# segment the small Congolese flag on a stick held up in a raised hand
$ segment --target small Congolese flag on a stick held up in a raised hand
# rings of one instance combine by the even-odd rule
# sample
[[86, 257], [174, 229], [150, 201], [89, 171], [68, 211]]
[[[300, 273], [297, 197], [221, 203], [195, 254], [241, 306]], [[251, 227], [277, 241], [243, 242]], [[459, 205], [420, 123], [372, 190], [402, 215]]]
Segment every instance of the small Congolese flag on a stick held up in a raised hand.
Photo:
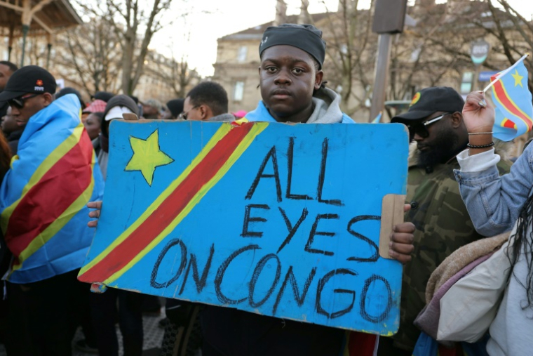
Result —
[[532, 95], [527, 88], [528, 73], [524, 55], [512, 67], [491, 77], [492, 101], [496, 105], [494, 137], [510, 141], [533, 126]]

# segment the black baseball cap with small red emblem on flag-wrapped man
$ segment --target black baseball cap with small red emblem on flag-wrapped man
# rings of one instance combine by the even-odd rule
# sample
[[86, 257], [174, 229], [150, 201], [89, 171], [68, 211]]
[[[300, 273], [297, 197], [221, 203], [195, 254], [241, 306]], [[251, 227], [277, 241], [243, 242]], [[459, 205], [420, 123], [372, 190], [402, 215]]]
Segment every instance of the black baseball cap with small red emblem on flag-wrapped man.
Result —
[[4, 91], [0, 93], [0, 102], [18, 98], [27, 93], [55, 94], [55, 78], [48, 70], [37, 65], [26, 65], [15, 70], [9, 78]]

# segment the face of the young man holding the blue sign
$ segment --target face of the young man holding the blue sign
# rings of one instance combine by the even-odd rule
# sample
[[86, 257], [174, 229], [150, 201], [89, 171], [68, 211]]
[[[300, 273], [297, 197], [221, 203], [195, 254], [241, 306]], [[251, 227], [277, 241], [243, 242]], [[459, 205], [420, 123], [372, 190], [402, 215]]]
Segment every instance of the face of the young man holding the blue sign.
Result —
[[323, 72], [309, 53], [293, 46], [273, 46], [262, 53], [261, 96], [271, 115], [281, 122], [306, 122], [313, 112], [313, 90]]

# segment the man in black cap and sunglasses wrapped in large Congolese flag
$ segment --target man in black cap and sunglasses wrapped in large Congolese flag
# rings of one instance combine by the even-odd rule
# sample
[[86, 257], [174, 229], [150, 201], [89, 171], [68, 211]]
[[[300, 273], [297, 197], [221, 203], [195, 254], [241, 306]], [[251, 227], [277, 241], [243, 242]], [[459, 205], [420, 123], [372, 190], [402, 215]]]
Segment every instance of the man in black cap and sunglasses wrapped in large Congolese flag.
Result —
[[[74, 94], [54, 100], [55, 78], [15, 71], [0, 102], [24, 128], [0, 187], [0, 225], [13, 257], [4, 275], [8, 355], [72, 355], [90, 289], [76, 278], [93, 241], [87, 202], [104, 181]], [[4, 273], [5, 270], [1, 270]]]

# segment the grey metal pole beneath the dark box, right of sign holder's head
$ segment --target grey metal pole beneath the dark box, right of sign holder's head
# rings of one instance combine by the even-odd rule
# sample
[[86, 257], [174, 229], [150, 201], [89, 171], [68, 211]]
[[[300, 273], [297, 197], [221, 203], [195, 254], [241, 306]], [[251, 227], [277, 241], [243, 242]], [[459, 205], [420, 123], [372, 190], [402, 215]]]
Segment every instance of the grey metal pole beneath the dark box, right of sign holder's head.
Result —
[[372, 91], [372, 107], [370, 107], [368, 122], [372, 122], [379, 112], [384, 109], [387, 77], [389, 76], [391, 62], [391, 43], [392, 34], [379, 34], [374, 91]]

